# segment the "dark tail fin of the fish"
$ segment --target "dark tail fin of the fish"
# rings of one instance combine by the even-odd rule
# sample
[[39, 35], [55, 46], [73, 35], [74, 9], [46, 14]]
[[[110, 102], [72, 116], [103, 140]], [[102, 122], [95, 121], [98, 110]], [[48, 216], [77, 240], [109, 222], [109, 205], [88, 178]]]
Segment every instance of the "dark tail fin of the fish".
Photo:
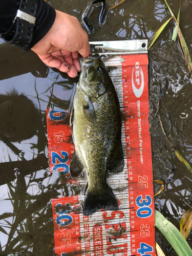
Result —
[[117, 200], [108, 185], [100, 190], [90, 190], [89, 188], [87, 190], [82, 209], [83, 215], [91, 215], [99, 209], [119, 209]]

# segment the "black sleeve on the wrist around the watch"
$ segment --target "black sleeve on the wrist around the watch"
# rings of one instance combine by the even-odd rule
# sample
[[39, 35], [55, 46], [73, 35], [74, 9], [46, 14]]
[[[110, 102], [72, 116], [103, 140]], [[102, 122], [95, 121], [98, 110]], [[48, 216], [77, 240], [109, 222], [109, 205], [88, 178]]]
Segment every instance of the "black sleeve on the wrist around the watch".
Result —
[[[13, 24], [20, 1], [19, 0], [1, 0], [0, 7], [0, 34], [3, 36]], [[33, 39], [30, 50], [42, 37], [50, 30], [55, 20], [55, 10], [44, 0], [38, 0], [36, 13], [36, 22], [33, 31]]]

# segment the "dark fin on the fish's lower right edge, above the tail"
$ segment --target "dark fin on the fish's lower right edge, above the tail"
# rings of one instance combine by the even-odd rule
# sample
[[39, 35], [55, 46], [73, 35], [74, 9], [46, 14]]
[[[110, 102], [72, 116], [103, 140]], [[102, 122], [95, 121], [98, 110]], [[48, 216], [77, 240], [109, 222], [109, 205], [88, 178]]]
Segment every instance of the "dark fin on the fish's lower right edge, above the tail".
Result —
[[118, 174], [121, 173], [124, 168], [124, 159], [123, 159], [123, 150], [122, 146], [120, 145], [119, 151], [111, 164], [109, 165], [109, 173], [110, 174]]

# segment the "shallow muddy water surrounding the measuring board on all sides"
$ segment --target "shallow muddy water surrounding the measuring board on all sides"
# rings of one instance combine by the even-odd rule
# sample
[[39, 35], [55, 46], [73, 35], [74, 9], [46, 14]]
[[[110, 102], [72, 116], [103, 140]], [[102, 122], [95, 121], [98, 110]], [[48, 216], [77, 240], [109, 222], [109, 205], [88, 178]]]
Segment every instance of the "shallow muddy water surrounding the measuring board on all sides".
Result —
[[[49, 3], [80, 21], [89, 1]], [[179, 1], [168, 3], [177, 14]], [[182, 1], [180, 28], [192, 55], [191, 7], [190, 0]], [[98, 10], [91, 15], [95, 32], [90, 41], [150, 40], [170, 17], [164, 1], [126, 0], [108, 12], [100, 28]], [[178, 41], [171, 40], [173, 28], [171, 22], [149, 51], [149, 120], [154, 179], [165, 183], [156, 208], [179, 228], [180, 218], [192, 205], [191, 173], [176, 158], [159, 117], [168, 139], [192, 165], [192, 80]], [[47, 106], [70, 111], [78, 77], [46, 67], [31, 51], [0, 43], [0, 255], [54, 255], [50, 200], [74, 195], [78, 189], [63, 185], [58, 173], [49, 174], [45, 111]], [[166, 255], [177, 255], [158, 231], [156, 238]], [[191, 235], [187, 241], [191, 246]]]

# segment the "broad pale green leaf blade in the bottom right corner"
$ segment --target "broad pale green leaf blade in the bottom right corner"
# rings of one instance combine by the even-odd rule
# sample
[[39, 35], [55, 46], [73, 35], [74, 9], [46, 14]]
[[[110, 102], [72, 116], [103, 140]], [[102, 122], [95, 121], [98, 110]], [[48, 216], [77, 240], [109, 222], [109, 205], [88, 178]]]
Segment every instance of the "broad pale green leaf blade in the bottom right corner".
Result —
[[179, 256], [192, 255], [192, 250], [179, 230], [157, 210], [155, 210], [155, 226], [163, 233]]

